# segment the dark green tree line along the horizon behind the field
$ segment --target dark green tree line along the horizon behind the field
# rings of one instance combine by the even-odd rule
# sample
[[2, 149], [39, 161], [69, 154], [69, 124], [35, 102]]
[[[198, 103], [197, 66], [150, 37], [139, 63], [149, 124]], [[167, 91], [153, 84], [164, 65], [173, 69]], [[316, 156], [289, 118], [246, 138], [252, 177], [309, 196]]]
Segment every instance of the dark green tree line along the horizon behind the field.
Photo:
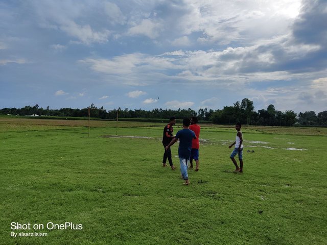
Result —
[[[236, 122], [242, 122], [247, 125], [259, 125], [259, 126], [293, 126], [299, 125], [317, 125], [327, 126], [327, 111], [322, 111], [316, 114], [314, 111], [300, 112], [296, 114], [292, 110], [278, 111], [274, 105], [269, 105], [267, 109], [255, 111], [253, 102], [249, 99], [243, 99], [241, 102], [237, 101], [233, 106], [224, 106], [223, 109], [199, 109], [198, 111], [189, 109], [162, 109], [156, 108], [152, 110], [135, 109], [130, 110], [125, 108], [124, 110], [113, 109], [105, 110], [103, 107], [97, 108], [92, 104], [90, 106], [90, 116], [102, 119], [115, 119], [117, 113], [119, 118], [162, 118], [167, 119], [171, 116], [175, 116], [177, 119], [189, 118], [197, 116], [200, 121], [212, 122], [214, 124], [236, 124]], [[38, 105], [25, 106], [24, 108], [3, 108], [0, 110], [0, 114], [3, 115], [33, 115], [40, 116], [65, 116], [65, 117], [88, 117], [88, 108], [72, 109], [50, 109], [46, 107], [43, 109]]]

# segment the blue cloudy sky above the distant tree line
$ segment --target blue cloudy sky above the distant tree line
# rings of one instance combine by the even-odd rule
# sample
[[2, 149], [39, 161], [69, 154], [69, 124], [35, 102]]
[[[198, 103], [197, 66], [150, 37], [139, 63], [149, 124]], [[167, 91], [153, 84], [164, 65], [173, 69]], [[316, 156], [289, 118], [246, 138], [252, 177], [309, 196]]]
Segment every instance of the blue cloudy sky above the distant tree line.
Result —
[[327, 110], [326, 0], [0, 0], [0, 108]]

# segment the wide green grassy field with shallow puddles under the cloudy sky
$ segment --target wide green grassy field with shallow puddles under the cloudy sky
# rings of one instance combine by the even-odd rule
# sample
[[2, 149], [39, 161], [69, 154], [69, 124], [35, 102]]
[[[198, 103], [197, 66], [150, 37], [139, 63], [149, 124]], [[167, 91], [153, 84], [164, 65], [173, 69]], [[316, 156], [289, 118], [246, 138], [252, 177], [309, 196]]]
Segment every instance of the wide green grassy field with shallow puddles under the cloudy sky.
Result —
[[[87, 126], [0, 117], [0, 244], [327, 244], [326, 128], [244, 127], [234, 174], [235, 129], [201, 125], [200, 171], [183, 186], [178, 144], [176, 170], [161, 167], [165, 124]], [[82, 229], [51, 227], [65, 222]]]

